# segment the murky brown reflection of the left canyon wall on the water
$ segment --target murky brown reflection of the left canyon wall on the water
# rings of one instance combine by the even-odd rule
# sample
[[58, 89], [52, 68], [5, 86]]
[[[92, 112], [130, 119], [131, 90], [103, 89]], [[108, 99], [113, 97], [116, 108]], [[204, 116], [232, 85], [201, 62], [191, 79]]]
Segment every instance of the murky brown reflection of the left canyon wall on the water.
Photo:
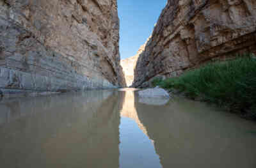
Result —
[[122, 99], [87, 91], [1, 102], [1, 166], [119, 167]]

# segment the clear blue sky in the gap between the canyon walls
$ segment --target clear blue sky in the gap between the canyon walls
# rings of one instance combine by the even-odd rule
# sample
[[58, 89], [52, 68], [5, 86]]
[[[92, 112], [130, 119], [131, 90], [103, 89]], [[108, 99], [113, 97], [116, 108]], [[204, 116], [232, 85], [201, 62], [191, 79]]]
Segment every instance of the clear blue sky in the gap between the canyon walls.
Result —
[[121, 59], [134, 56], [146, 42], [166, 0], [118, 0]]

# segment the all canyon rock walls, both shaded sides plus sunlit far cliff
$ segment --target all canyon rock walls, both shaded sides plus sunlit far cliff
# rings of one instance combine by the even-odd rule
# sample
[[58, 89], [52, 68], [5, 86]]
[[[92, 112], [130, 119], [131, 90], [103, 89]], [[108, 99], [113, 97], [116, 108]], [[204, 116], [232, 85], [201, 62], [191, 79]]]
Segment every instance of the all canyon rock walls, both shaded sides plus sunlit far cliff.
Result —
[[256, 3], [168, 0], [147, 42], [122, 61], [119, 29], [116, 0], [0, 0], [0, 95], [144, 88], [256, 53]]

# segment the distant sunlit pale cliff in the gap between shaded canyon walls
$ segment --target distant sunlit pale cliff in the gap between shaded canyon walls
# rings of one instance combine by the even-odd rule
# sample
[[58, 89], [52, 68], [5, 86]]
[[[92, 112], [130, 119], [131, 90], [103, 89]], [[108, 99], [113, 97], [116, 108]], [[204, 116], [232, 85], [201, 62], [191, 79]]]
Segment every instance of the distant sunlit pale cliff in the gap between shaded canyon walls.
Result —
[[138, 61], [138, 57], [140, 54], [145, 50], [146, 43], [141, 45], [140, 49], [138, 50], [137, 54], [132, 57], [128, 57], [126, 59], [121, 60], [121, 66], [124, 71], [125, 82], [127, 86], [131, 86], [134, 80], [134, 70], [136, 68], [136, 63]]

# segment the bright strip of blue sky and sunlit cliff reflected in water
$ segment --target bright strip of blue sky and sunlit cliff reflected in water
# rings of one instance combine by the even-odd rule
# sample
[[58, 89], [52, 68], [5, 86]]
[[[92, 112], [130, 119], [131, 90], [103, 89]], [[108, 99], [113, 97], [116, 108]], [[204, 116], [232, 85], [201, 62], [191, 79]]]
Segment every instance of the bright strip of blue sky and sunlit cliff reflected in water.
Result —
[[[147, 129], [138, 118], [134, 107], [134, 89], [123, 89], [125, 99], [120, 111], [120, 167], [160, 168], [159, 157]], [[121, 92], [122, 93], [122, 92]]]

